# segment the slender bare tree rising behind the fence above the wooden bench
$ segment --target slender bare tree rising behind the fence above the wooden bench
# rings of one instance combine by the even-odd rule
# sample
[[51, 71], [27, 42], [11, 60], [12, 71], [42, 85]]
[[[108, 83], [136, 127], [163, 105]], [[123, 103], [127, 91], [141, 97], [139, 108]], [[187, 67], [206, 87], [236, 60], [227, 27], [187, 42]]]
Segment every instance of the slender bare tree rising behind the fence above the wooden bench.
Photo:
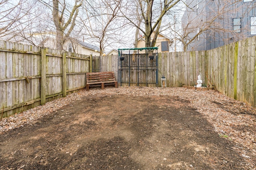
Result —
[[120, 42], [124, 24], [117, 20], [122, 0], [96, 0], [85, 4], [82, 18], [85, 27], [84, 35], [100, 44], [100, 55], [104, 49], [113, 43]]

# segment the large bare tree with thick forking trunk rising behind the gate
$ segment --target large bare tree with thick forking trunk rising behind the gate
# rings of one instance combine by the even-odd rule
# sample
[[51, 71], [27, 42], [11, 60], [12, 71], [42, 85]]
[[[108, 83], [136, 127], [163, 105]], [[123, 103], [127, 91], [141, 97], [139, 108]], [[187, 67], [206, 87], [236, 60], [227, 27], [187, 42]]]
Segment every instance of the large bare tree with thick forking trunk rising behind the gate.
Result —
[[[145, 46], [154, 47], [160, 32], [162, 18], [171, 12], [172, 8], [176, 6], [178, 2], [180, 2], [180, 0], [138, 0], [138, 5], [136, 2], [127, 3], [124, 6], [125, 10], [122, 11], [122, 14], [132, 25], [142, 31], [145, 36]], [[139, 13], [136, 14], [134, 11]], [[137, 22], [138, 16], [142, 16], [141, 25]], [[155, 35], [151, 41], [153, 32], [155, 32]]]

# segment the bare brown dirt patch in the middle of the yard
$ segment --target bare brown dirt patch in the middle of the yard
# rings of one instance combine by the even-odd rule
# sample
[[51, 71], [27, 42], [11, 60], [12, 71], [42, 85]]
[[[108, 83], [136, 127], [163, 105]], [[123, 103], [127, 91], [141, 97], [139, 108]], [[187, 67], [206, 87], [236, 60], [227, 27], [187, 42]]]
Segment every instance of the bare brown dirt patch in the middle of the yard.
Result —
[[234, 147], [188, 100], [99, 93], [3, 133], [0, 169], [253, 169]]

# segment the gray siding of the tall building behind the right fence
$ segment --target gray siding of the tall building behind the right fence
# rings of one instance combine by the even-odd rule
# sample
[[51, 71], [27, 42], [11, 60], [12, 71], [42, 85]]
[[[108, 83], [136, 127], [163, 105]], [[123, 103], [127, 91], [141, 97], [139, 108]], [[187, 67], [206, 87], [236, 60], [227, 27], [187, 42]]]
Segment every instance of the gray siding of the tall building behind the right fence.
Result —
[[[251, 17], [256, 16], [256, 1], [186, 0], [186, 4], [188, 6], [182, 17], [182, 29], [185, 33], [184, 28], [190, 28], [187, 41], [196, 36], [198, 29], [206, 29], [208, 21], [213, 21], [209, 29], [204, 30], [187, 46], [187, 51], [214, 49], [256, 34], [256, 23], [251, 23]], [[241, 18], [240, 22], [237, 18]], [[237, 25], [234, 25], [234, 21]], [[240, 30], [237, 29], [239, 27]]]

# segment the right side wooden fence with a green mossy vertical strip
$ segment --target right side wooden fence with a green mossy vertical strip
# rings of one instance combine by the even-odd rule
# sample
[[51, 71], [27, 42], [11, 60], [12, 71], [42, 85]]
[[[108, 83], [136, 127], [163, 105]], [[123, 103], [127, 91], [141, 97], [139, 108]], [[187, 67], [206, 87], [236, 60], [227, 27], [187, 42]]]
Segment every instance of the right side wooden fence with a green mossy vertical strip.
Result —
[[256, 107], [256, 37], [208, 51], [208, 74], [218, 91]]

